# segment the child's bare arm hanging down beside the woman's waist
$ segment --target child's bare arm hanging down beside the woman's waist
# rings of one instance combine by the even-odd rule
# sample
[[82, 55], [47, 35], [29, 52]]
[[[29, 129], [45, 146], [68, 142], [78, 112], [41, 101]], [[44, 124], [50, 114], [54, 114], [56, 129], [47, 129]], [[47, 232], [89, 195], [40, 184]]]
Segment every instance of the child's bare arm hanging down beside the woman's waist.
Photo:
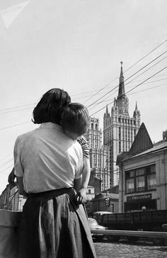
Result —
[[91, 174], [90, 160], [87, 157], [83, 157], [83, 169], [82, 169], [80, 187], [79, 187], [79, 181], [78, 181], [77, 182], [78, 184], [76, 185], [76, 188], [75, 188], [76, 191], [78, 191], [76, 195], [76, 201], [78, 204], [86, 202], [86, 189], [88, 187], [90, 174]]

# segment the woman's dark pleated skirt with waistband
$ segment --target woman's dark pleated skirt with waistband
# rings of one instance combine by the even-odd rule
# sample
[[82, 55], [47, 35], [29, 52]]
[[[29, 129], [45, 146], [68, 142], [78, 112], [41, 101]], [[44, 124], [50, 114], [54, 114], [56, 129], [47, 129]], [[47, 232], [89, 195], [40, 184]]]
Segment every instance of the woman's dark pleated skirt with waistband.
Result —
[[74, 189], [30, 194], [23, 207], [19, 258], [95, 258], [83, 205]]

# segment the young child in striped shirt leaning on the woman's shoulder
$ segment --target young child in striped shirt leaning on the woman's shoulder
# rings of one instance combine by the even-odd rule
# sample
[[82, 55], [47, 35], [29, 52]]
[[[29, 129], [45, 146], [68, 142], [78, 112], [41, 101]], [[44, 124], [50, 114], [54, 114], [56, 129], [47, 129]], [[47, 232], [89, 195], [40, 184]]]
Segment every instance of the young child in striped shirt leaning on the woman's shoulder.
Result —
[[78, 204], [86, 202], [86, 189], [91, 174], [89, 161], [88, 142], [84, 135], [89, 126], [89, 116], [87, 108], [81, 103], [69, 103], [62, 112], [61, 125], [64, 133], [77, 140], [83, 151], [83, 170], [81, 179], [74, 180], [74, 189], [77, 191], [76, 201]]

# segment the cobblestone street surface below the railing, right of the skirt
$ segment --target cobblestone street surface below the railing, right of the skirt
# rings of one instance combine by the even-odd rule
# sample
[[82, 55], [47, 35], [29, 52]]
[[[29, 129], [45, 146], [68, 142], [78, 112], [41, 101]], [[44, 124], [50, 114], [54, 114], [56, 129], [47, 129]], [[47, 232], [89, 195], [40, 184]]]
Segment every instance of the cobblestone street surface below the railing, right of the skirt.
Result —
[[165, 258], [167, 246], [155, 246], [151, 242], [94, 242], [97, 258]]

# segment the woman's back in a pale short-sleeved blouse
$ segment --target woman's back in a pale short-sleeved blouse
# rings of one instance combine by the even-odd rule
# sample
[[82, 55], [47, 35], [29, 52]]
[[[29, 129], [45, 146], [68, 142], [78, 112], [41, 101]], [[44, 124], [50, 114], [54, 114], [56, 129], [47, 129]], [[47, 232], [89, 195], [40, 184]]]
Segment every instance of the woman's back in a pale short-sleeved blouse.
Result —
[[27, 193], [72, 187], [81, 176], [82, 159], [79, 143], [54, 123], [42, 123], [16, 140], [16, 176], [23, 176]]

